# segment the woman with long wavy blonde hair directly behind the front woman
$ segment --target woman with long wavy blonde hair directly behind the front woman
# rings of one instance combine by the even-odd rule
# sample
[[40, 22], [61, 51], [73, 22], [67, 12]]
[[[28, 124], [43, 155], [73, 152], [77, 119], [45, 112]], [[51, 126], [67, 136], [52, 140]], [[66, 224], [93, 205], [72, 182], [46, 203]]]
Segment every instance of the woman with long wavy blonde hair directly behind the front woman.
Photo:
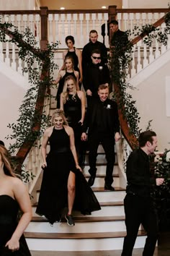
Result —
[[76, 90], [76, 80], [72, 76], [66, 77], [61, 93], [61, 109], [63, 109], [68, 125], [73, 128], [76, 153], [80, 166], [83, 162], [83, 142], [81, 141], [81, 126], [85, 116], [85, 95], [81, 90]]

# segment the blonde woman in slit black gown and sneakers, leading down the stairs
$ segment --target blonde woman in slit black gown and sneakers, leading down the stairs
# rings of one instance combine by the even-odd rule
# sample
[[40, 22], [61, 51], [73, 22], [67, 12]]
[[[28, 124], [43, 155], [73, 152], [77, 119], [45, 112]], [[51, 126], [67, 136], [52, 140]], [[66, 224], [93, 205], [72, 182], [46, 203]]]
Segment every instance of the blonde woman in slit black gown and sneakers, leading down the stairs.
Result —
[[[63, 209], [68, 206], [65, 218], [68, 225], [73, 226], [73, 206], [84, 214], [99, 210], [100, 206], [81, 173], [73, 129], [68, 127], [63, 111], [57, 109], [52, 121], [54, 125], [45, 130], [42, 140], [44, 174], [36, 213], [45, 216], [53, 224], [61, 220]], [[46, 158], [48, 141], [50, 153]]]

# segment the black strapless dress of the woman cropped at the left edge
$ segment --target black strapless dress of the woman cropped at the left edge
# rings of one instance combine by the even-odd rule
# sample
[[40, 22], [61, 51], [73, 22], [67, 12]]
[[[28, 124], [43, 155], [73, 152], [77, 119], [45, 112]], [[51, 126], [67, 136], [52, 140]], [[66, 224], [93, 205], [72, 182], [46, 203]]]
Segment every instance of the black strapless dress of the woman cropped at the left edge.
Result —
[[17, 227], [17, 215], [19, 205], [9, 195], [0, 195], [0, 255], [1, 256], [31, 256], [30, 250], [24, 239], [24, 235], [19, 239], [19, 250], [12, 252], [5, 247], [6, 242], [11, 239], [14, 230]]

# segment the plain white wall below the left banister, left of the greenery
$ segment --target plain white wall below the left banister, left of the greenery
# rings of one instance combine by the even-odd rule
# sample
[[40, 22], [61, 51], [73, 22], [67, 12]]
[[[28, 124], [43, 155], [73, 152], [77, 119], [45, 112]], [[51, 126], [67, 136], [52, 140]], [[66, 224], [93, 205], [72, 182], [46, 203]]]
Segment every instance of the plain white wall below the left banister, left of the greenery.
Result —
[[13, 122], [16, 124], [19, 117], [19, 106], [21, 106], [24, 95], [27, 91], [27, 81], [11, 68], [0, 62], [0, 140], [3, 140], [6, 148], [12, 140], [6, 140], [6, 135], [10, 135], [12, 130], [7, 125]]

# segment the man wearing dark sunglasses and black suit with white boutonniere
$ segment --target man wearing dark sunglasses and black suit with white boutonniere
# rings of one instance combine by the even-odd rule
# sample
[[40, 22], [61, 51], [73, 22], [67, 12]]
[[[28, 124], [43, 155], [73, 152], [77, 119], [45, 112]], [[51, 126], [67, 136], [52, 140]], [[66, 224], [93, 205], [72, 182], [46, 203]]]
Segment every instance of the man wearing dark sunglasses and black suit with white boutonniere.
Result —
[[99, 85], [109, 86], [109, 69], [106, 64], [102, 64], [101, 53], [98, 49], [91, 52], [91, 64], [86, 67], [84, 74], [84, 90], [86, 90], [87, 105], [98, 98]]

